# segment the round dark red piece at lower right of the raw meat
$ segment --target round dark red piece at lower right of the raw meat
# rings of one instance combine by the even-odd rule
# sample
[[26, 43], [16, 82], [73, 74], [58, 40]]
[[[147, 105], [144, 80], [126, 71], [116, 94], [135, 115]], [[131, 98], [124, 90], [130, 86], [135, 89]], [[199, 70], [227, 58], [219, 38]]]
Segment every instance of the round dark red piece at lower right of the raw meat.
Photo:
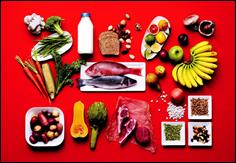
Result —
[[147, 146], [150, 141], [150, 131], [147, 127], [138, 127], [135, 132], [135, 140], [142, 146]]

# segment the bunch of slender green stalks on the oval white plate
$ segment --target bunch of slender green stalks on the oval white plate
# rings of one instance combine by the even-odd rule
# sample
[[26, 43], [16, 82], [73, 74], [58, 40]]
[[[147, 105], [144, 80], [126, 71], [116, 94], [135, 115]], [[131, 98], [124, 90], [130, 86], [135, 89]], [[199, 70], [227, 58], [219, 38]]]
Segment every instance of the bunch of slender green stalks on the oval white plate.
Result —
[[53, 51], [57, 51], [67, 43], [71, 42], [71, 36], [60, 35], [57, 37], [46, 37], [37, 41], [39, 42], [40, 47], [34, 50], [34, 55], [42, 55], [43, 57], [47, 57], [48, 55], [51, 55]]

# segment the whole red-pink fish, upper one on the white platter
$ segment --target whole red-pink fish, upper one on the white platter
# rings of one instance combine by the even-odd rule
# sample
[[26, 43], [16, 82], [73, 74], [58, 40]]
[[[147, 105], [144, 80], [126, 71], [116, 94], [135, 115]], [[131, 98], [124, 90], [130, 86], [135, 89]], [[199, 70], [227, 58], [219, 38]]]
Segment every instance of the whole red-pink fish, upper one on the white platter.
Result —
[[88, 76], [110, 76], [135, 74], [141, 76], [141, 68], [128, 68], [127, 66], [111, 61], [101, 61], [94, 63], [85, 71]]

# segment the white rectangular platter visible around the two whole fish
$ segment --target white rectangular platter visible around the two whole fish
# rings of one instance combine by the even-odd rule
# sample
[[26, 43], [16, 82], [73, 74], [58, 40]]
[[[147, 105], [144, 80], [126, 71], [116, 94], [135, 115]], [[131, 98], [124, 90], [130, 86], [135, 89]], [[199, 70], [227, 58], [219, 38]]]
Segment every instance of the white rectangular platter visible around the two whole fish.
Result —
[[[81, 65], [80, 71], [80, 79], [92, 79], [92, 77], [88, 76], [85, 71], [86, 69], [96, 62], [87, 62], [86, 65]], [[120, 92], [120, 91], [145, 91], [146, 90], [146, 63], [145, 62], [118, 62], [121, 63], [128, 68], [141, 68], [141, 76], [127, 74], [125, 76], [135, 79], [137, 84], [123, 89], [102, 89], [102, 88], [95, 88], [93, 86], [83, 86], [80, 87], [80, 91], [84, 92]]]

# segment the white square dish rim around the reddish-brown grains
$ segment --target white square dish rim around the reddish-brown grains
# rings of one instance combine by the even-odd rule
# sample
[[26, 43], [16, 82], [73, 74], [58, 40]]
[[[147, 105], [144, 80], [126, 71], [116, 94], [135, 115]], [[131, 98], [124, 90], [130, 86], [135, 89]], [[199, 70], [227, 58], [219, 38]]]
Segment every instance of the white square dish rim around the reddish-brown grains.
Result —
[[[207, 99], [208, 100], [208, 115], [192, 115], [191, 114], [191, 99]], [[188, 96], [188, 119], [212, 119], [212, 97], [211, 96]]]

